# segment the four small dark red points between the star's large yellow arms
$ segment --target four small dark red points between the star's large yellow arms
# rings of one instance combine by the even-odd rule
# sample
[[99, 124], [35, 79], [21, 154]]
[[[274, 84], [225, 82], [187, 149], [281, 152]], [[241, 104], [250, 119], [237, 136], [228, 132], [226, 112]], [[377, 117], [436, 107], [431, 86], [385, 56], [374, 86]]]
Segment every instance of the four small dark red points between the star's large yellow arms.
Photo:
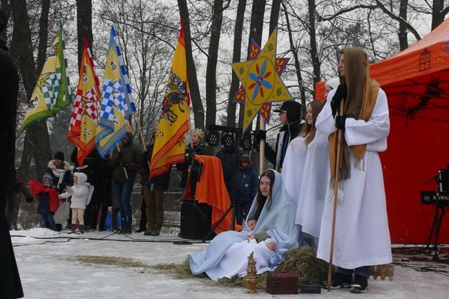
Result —
[[[251, 41], [249, 60], [256, 59], [261, 51], [262, 49], [260, 49], [258, 44], [256, 44], [256, 41], [254, 40]], [[279, 76], [282, 75], [282, 73], [284, 72], [285, 67], [287, 66], [289, 60], [290, 60], [289, 58], [276, 57], [275, 69], [276, 73], [278, 73]], [[240, 88], [238, 89], [238, 92], [236, 94], [236, 97], [234, 97], [233, 102], [240, 104], [245, 103], [245, 96], [246, 96], [245, 94], [246, 94], [245, 88], [242, 85], [240, 85]], [[271, 115], [271, 102], [266, 102], [265, 104], [263, 104], [259, 109], [259, 114], [262, 115], [263, 119], [265, 119], [265, 122], [269, 124], [269, 117]]]

